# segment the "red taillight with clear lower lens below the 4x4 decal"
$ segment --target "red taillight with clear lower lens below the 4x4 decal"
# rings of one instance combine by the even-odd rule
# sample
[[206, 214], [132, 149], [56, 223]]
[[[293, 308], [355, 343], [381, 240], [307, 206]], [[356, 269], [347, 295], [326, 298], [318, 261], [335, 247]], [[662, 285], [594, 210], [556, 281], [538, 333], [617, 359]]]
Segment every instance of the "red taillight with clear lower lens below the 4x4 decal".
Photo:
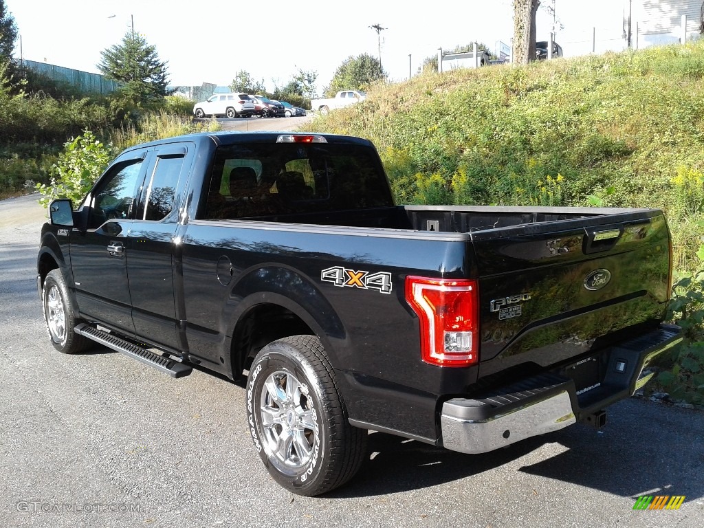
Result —
[[479, 362], [478, 300], [474, 280], [406, 277], [406, 301], [420, 320], [425, 363], [466, 367]]

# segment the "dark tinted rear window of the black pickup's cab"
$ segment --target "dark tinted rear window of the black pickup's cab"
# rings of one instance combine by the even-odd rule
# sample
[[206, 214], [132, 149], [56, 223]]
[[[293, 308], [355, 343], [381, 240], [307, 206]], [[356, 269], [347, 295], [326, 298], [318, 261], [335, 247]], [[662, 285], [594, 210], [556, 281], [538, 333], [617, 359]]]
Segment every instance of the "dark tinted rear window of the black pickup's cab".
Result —
[[215, 154], [199, 218], [394, 206], [374, 149], [353, 144], [235, 144]]

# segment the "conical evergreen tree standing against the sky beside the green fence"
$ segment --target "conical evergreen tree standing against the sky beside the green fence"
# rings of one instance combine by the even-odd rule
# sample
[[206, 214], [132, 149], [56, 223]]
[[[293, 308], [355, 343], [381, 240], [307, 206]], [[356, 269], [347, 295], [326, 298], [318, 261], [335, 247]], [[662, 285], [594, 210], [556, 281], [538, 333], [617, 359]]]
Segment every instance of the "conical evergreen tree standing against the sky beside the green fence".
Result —
[[98, 69], [108, 78], [122, 83], [119, 93], [139, 108], [161, 103], [168, 95], [168, 70], [160, 61], [156, 47], [147, 44], [134, 31], [125, 33], [121, 44], [101, 51]]

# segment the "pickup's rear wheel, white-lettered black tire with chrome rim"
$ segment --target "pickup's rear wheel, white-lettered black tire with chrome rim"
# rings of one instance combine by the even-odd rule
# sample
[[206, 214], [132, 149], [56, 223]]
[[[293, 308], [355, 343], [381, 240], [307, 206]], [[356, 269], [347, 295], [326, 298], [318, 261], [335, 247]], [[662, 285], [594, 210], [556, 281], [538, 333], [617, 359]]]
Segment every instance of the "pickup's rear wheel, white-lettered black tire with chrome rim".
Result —
[[331, 491], [365, 460], [367, 431], [349, 424], [318, 337], [286, 337], [262, 348], [249, 370], [246, 412], [262, 462], [294, 494]]

